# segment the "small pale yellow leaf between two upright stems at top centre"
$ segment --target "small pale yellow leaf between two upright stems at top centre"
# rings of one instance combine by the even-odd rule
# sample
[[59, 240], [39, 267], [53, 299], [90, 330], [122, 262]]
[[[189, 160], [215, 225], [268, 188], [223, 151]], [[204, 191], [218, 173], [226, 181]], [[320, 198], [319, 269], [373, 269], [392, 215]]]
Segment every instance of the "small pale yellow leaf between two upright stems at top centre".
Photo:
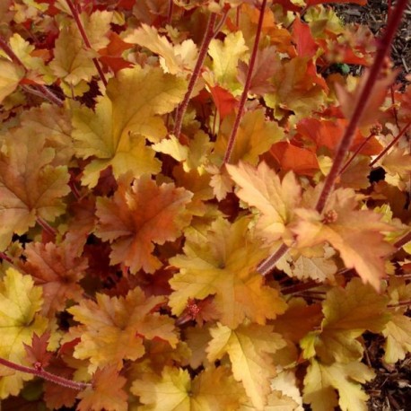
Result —
[[213, 58], [212, 69], [216, 82], [234, 95], [241, 92], [237, 66], [240, 60], [247, 58], [248, 50], [242, 31], [229, 33], [223, 41], [212, 39], [208, 47], [208, 54]]

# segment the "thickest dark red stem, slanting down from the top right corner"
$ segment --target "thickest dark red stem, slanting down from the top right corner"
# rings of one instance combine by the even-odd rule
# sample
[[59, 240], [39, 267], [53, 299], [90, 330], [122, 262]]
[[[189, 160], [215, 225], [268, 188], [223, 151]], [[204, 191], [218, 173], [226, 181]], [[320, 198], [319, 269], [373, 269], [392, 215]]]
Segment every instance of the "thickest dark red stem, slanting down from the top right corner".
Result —
[[407, 7], [407, 0], [398, 0], [398, 5], [394, 13], [391, 14], [386, 31], [383, 39], [380, 40], [380, 48], [377, 51], [374, 63], [371, 67], [370, 74], [365, 82], [363, 90], [357, 101], [354, 109], [353, 116], [350, 118], [348, 126], [345, 129], [345, 134], [338, 146], [337, 154], [334, 159], [331, 170], [325, 180], [324, 187], [322, 188], [321, 194], [319, 196], [319, 201], [316, 205], [316, 210], [322, 213], [324, 207], [326, 206], [329, 195], [331, 194], [334, 184], [336, 183], [337, 177], [340, 173], [341, 167], [345, 159], [345, 155], [348, 152], [351, 144], [353, 143], [354, 133], [356, 127], [358, 126], [367, 102], [372, 95], [372, 89], [374, 84], [377, 82], [378, 75], [380, 74], [381, 68], [384, 65], [385, 57], [389, 51], [394, 35], [398, 29], [398, 25], [401, 22], [401, 17], [404, 10]]

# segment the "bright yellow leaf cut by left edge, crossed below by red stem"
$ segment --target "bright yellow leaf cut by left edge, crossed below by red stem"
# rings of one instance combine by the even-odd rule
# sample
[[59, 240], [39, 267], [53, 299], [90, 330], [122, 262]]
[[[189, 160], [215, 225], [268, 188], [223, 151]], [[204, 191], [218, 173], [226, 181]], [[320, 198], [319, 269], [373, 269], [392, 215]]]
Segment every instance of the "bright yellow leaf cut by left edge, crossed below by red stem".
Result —
[[[22, 275], [8, 268], [0, 283], [0, 357], [13, 363], [24, 363], [26, 351], [23, 344], [31, 344], [34, 333], [42, 335], [48, 319], [39, 315], [43, 299], [40, 287], [34, 286], [30, 275]], [[3, 367], [1, 374], [4, 375]], [[12, 373], [0, 379], [0, 398], [18, 395], [23, 380], [30, 374]]]

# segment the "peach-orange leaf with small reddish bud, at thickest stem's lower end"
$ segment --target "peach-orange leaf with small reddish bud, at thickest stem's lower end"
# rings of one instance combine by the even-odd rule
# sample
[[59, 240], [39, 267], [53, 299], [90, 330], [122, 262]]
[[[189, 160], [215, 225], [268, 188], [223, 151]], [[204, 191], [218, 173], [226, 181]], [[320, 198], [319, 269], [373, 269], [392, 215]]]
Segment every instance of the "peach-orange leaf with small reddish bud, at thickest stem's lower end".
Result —
[[328, 241], [339, 251], [345, 267], [355, 268], [364, 283], [379, 290], [380, 278], [385, 276], [384, 258], [394, 250], [382, 232], [393, 231], [393, 227], [381, 221], [381, 214], [357, 207], [354, 190], [338, 188], [322, 215], [308, 209], [296, 210], [301, 220], [293, 232], [301, 248]]

